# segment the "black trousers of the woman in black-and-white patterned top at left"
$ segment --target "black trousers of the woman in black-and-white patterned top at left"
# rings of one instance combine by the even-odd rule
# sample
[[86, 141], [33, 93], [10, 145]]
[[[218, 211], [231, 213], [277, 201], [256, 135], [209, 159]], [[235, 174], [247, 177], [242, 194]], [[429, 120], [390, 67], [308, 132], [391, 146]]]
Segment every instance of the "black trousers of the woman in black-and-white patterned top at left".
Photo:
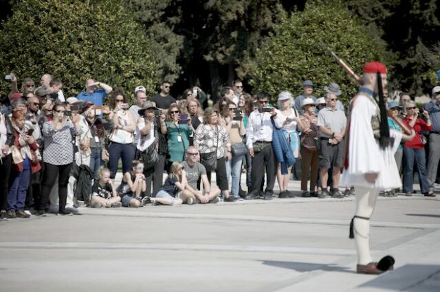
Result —
[[68, 165], [51, 165], [50, 163], [45, 163], [44, 167], [43, 189], [41, 190], [43, 196], [40, 209], [45, 210], [49, 208], [50, 191], [52, 190], [52, 186], [54, 186], [56, 175], [58, 175], [58, 198], [60, 200], [59, 210], [61, 212], [66, 208], [67, 184], [69, 184], [69, 173], [72, 168], [72, 163]]

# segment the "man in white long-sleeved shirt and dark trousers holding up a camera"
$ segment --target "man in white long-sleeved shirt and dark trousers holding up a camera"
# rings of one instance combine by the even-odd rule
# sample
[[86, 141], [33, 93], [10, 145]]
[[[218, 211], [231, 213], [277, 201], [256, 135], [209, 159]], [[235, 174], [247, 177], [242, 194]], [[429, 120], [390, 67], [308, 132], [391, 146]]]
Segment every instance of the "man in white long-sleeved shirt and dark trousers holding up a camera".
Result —
[[258, 109], [251, 112], [246, 127], [248, 141], [246, 146], [252, 156], [252, 186], [245, 199], [259, 199], [261, 184], [266, 170], [267, 186], [264, 199], [270, 200], [274, 195], [274, 184], [276, 175], [276, 158], [272, 149], [272, 132], [274, 126], [272, 117], [276, 115], [275, 108], [267, 108], [269, 103], [267, 95], [259, 93], [256, 95]]

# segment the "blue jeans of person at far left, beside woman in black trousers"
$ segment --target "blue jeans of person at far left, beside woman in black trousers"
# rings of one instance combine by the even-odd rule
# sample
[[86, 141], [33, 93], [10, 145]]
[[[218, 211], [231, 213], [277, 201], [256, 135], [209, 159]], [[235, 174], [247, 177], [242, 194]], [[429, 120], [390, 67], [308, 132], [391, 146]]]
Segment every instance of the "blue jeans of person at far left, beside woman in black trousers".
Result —
[[23, 210], [25, 208], [29, 182], [30, 169], [25, 169], [21, 172], [13, 171], [11, 173], [7, 210]]

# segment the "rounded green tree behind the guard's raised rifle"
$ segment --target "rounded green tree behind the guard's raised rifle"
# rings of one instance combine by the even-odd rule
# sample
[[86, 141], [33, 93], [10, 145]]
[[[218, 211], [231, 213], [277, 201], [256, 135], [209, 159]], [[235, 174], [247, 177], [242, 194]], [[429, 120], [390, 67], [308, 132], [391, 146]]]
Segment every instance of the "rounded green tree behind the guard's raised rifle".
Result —
[[284, 14], [281, 23], [257, 50], [254, 60], [245, 63], [251, 73], [254, 92], [270, 93], [273, 99], [282, 90], [300, 92], [304, 80], [316, 84], [316, 96], [324, 95], [324, 86], [337, 82], [342, 100], [348, 101], [358, 88], [334, 60], [332, 49], [361, 73], [370, 60], [386, 61], [384, 43], [353, 17], [341, 0], [310, 1], [302, 12]]

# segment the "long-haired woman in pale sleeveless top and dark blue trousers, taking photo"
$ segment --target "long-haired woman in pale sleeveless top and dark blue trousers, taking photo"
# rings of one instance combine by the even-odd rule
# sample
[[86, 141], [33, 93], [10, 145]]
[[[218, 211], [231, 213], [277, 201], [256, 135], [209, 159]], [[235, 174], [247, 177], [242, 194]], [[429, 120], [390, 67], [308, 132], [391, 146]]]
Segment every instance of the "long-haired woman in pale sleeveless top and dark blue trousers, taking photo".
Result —
[[131, 170], [131, 162], [135, 158], [133, 144], [136, 121], [129, 110], [129, 99], [120, 90], [111, 93], [110, 107], [113, 109], [113, 131], [109, 136], [109, 169], [110, 178], [114, 180], [118, 171], [118, 162], [122, 158], [122, 172]]

